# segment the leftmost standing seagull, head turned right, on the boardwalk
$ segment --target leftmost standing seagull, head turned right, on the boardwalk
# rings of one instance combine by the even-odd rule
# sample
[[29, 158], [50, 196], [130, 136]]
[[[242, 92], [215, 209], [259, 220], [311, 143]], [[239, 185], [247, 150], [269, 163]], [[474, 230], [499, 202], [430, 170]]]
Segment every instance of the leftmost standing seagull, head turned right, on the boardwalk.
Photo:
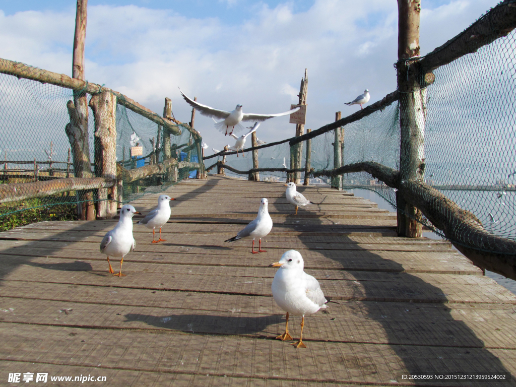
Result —
[[[107, 255], [107, 263], [109, 264], [109, 272], [118, 277], [124, 277], [122, 274], [122, 262], [124, 256], [130, 251], [133, 251], [136, 246], [136, 241], [133, 238], [133, 221], [131, 220], [134, 214], [140, 214], [131, 204], [125, 204], [120, 210], [120, 219], [117, 225], [111, 231], [108, 231], [100, 243], [100, 251]], [[121, 256], [120, 272], [115, 274], [109, 256]]]

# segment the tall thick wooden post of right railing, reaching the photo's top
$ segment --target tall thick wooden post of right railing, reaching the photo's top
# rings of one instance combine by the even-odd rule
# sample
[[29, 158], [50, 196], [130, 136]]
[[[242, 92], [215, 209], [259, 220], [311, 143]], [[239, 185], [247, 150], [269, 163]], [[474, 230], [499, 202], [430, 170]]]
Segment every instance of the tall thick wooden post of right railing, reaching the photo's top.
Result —
[[[426, 89], [421, 90], [416, 66], [410, 58], [419, 56], [421, 0], [398, 0], [398, 90], [400, 120], [399, 175], [401, 180], [423, 181], [425, 170]], [[396, 192], [399, 236], [418, 237], [423, 227], [421, 211]], [[400, 211], [400, 209], [402, 211]]]

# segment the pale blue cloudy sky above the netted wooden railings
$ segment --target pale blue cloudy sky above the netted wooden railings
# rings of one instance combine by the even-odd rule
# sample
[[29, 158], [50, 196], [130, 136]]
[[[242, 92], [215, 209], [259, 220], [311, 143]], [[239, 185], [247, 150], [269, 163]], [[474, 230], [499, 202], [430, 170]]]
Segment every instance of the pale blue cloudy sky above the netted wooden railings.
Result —
[[[422, 0], [422, 54], [458, 34], [496, 0]], [[73, 0], [0, 0], [0, 57], [71, 75]], [[308, 68], [305, 127], [360, 109], [344, 103], [365, 88], [371, 102], [396, 88], [395, 0], [89, 0], [86, 78], [177, 119], [191, 108], [178, 86], [224, 110], [276, 113], [297, 103]], [[228, 138], [196, 117], [211, 148]], [[266, 121], [259, 138], [294, 135], [288, 117]], [[232, 142], [231, 142], [232, 144]]]

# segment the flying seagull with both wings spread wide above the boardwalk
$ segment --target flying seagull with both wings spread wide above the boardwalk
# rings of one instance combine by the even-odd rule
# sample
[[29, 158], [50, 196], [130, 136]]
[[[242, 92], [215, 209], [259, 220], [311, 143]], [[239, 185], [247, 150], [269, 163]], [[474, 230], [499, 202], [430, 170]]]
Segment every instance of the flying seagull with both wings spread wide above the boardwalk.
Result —
[[[242, 111], [242, 105], [236, 105], [235, 110], [233, 111], [225, 111], [225, 110], [218, 110], [214, 109], [213, 107], [209, 107], [203, 104], [200, 104], [197, 101], [193, 101], [190, 98], [188, 98], [182, 91], [181, 95], [183, 95], [183, 98], [185, 99], [190, 106], [195, 107], [203, 116], [212, 117], [212, 118], [220, 118], [223, 119], [223, 121], [219, 121], [215, 124], [215, 127], [217, 130], [222, 132], [225, 126], [225, 135], [228, 135], [228, 129], [231, 126], [232, 130], [231, 133], [235, 130], [235, 126], [237, 127], [237, 132], [243, 129], [243, 126], [240, 124], [240, 121], [265, 121], [272, 117], [281, 117], [281, 116], [288, 116], [289, 114], [292, 114], [300, 109], [300, 107], [296, 107], [292, 110], [284, 111], [283, 113], [278, 114], [244, 114]], [[231, 134], [230, 133], [230, 134]]]

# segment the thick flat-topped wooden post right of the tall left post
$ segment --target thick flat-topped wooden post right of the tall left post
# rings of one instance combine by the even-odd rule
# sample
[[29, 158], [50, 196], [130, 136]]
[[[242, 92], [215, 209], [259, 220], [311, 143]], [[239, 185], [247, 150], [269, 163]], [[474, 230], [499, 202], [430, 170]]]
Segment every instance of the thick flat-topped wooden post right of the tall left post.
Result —
[[[95, 175], [101, 178], [117, 178], [117, 96], [109, 91], [95, 94], [90, 99], [95, 119]], [[117, 185], [99, 188], [97, 218], [106, 219], [117, 215]]]

